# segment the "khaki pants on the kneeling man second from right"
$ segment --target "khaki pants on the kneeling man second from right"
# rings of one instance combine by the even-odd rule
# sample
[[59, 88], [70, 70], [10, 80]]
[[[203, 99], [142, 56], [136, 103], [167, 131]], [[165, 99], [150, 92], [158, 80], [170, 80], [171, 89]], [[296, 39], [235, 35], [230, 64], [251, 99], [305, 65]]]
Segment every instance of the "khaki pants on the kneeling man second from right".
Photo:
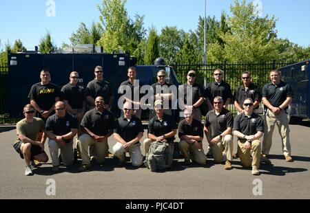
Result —
[[223, 158], [223, 155], [226, 155], [226, 159], [229, 161], [232, 161], [233, 157], [233, 150], [234, 150], [234, 142], [232, 135], [225, 135], [220, 142], [217, 144], [214, 144], [213, 146], [210, 146], [214, 161], [216, 163], [220, 163], [222, 161], [225, 161]]

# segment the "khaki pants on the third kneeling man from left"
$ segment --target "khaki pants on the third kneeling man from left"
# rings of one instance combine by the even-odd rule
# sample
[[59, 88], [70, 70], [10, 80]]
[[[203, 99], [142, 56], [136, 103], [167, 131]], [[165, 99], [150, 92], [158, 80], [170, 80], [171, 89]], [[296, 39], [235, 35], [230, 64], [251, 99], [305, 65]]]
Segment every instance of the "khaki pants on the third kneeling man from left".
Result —
[[88, 146], [94, 147], [94, 156], [96, 157], [97, 164], [103, 164], [105, 162], [105, 154], [107, 153], [107, 139], [102, 142], [96, 142], [90, 135], [84, 133], [78, 139], [79, 147], [81, 148], [82, 164], [89, 165], [90, 157], [88, 155]]

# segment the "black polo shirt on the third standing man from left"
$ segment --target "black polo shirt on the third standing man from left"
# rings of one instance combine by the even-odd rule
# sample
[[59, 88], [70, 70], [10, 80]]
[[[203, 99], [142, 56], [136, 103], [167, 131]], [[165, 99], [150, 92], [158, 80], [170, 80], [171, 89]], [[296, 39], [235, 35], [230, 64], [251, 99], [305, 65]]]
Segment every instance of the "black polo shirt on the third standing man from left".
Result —
[[99, 81], [95, 78], [88, 82], [86, 96], [92, 96], [94, 99], [98, 96], [102, 96], [105, 104], [110, 104], [110, 98], [113, 96], [113, 91], [107, 81]]

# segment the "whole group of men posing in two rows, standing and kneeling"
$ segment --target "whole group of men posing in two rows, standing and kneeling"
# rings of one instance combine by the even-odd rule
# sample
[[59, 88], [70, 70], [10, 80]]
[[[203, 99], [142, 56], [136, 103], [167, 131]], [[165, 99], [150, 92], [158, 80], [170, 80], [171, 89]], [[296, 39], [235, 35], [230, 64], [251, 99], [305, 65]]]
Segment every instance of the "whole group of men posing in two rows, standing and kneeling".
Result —
[[[123, 94], [128, 94], [125, 91], [129, 89], [131, 96], [125, 96], [123, 106], [120, 106], [121, 116], [117, 119], [114, 119], [110, 110], [114, 95], [109, 83], [103, 80], [101, 66], [95, 67], [94, 75], [94, 80], [83, 89], [77, 84], [79, 74], [72, 71], [68, 84], [59, 90], [50, 82], [50, 72], [47, 69], [41, 71], [41, 82], [32, 86], [29, 93], [30, 104], [23, 108], [25, 118], [17, 123], [14, 148], [25, 159], [25, 175], [33, 175], [36, 161], [48, 161], [48, 155], [44, 151], [47, 137], [54, 172], [59, 171], [60, 159], [64, 166], [74, 163], [74, 149], [79, 150], [82, 159], [80, 172], [89, 170], [91, 161], [103, 164], [109, 150], [107, 139], [111, 135], [116, 140], [112, 150], [119, 160], [118, 166], [124, 166], [127, 152], [133, 166], [143, 164], [140, 148], [144, 133], [141, 122], [143, 103], [141, 85], [135, 83], [136, 68], [128, 69], [128, 80], [121, 84], [125, 87]], [[158, 71], [158, 82], [152, 85], [154, 109], [149, 117], [147, 139], [143, 141], [145, 153], [149, 152], [152, 142], [160, 141], [168, 144], [166, 159], [169, 168], [173, 166], [175, 146], [178, 146], [185, 158], [185, 164], [195, 162], [204, 165], [207, 161], [202, 144], [205, 133], [214, 161], [225, 162], [225, 170], [230, 170], [234, 158], [233, 136], [236, 136], [237, 156], [242, 166], [251, 167], [252, 175], [259, 175], [260, 162], [271, 164], [268, 154], [273, 129], [277, 124], [285, 159], [293, 161], [287, 119], [287, 107], [293, 93], [291, 87], [280, 80], [278, 70], [270, 72], [271, 82], [263, 87], [262, 93], [251, 82], [249, 71], [243, 72], [242, 85], [236, 89], [234, 96], [229, 84], [223, 80], [222, 70], [214, 71], [214, 82], [210, 82], [205, 89], [196, 83], [196, 71], [188, 71], [187, 82], [178, 89], [185, 93], [183, 100], [179, 100], [184, 107], [178, 125], [172, 115], [172, 100], [176, 97], [169, 89], [171, 85], [166, 82], [165, 76], [165, 70]], [[163, 89], [158, 90], [158, 87]], [[136, 93], [138, 98], [134, 98]], [[232, 100], [238, 110], [235, 118], [227, 109]], [[266, 107], [265, 120], [256, 113], [261, 100]], [[168, 106], [166, 102], [169, 103]], [[204, 102], [209, 106], [209, 111], [205, 115], [203, 126], [200, 107]], [[86, 112], [87, 105], [90, 110]], [[180, 142], [174, 142], [176, 133]], [[262, 135], [264, 138], [261, 143], [259, 139]]]

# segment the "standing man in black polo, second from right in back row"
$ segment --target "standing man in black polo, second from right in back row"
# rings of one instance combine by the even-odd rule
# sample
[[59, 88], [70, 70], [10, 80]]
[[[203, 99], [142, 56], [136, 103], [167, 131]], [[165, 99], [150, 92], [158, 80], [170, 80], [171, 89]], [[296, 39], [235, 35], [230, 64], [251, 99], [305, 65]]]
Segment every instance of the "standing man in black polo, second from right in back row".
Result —
[[258, 109], [260, 100], [262, 99], [260, 89], [251, 82], [251, 74], [249, 71], [242, 73], [242, 85], [238, 87], [234, 93], [234, 105], [238, 110], [238, 114], [243, 113], [242, 104], [246, 98], [254, 100], [254, 109]]

